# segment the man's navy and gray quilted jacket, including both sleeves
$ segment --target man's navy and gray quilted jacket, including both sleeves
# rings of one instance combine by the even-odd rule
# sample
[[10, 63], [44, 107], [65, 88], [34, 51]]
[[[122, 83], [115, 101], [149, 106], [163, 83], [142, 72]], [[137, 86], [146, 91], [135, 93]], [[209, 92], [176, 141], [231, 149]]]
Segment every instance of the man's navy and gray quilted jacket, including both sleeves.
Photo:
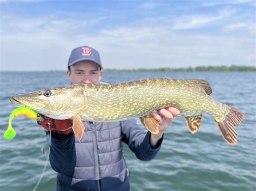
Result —
[[150, 145], [150, 132], [134, 119], [122, 122], [83, 122], [85, 133], [80, 142], [73, 132], [52, 133], [50, 164], [58, 172], [57, 190], [129, 190], [122, 142], [140, 160], [156, 157], [163, 140]]

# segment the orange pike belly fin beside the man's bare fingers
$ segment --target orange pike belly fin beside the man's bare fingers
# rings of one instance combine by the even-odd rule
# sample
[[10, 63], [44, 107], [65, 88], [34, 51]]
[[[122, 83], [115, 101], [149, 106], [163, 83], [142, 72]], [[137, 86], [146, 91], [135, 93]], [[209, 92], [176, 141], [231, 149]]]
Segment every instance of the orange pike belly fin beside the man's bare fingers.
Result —
[[143, 126], [150, 131], [152, 134], [159, 133], [159, 122], [151, 115], [140, 117], [140, 122], [142, 122]]

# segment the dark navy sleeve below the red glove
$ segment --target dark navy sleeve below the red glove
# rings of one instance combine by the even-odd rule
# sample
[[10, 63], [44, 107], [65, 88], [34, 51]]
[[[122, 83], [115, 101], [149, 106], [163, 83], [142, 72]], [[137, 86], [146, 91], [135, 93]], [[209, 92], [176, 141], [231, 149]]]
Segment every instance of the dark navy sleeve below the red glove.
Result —
[[[76, 166], [76, 147], [75, 135], [73, 132], [68, 135], [58, 135], [51, 132], [46, 132], [50, 145], [50, 164], [54, 171], [62, 174], [70, 174]], [[49, 142], [50, 143], [50, 142]]]

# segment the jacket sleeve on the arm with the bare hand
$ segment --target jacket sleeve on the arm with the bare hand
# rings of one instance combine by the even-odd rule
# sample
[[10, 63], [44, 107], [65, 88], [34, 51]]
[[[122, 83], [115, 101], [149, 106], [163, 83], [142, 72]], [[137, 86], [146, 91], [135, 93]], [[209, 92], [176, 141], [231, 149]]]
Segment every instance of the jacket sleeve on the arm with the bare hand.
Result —
[[140, 160], [152, 160], [156, 157], [160, 150], [163, 137], [158, 141], [155, 147], [150, 144], [151, 133], [145, 132], [138, 126], [135, 119], [121, 122], [122, 141], [129, 145], [130, 149], [136, 154]]

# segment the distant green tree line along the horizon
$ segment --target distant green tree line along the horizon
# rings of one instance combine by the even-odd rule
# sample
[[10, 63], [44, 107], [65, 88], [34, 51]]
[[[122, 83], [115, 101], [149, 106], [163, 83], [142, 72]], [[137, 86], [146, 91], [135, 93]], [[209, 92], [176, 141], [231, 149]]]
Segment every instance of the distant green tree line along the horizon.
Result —
[[106, 72], [256, 72], [255, 66], [196, 66], [187, 68], [104, 69]]

